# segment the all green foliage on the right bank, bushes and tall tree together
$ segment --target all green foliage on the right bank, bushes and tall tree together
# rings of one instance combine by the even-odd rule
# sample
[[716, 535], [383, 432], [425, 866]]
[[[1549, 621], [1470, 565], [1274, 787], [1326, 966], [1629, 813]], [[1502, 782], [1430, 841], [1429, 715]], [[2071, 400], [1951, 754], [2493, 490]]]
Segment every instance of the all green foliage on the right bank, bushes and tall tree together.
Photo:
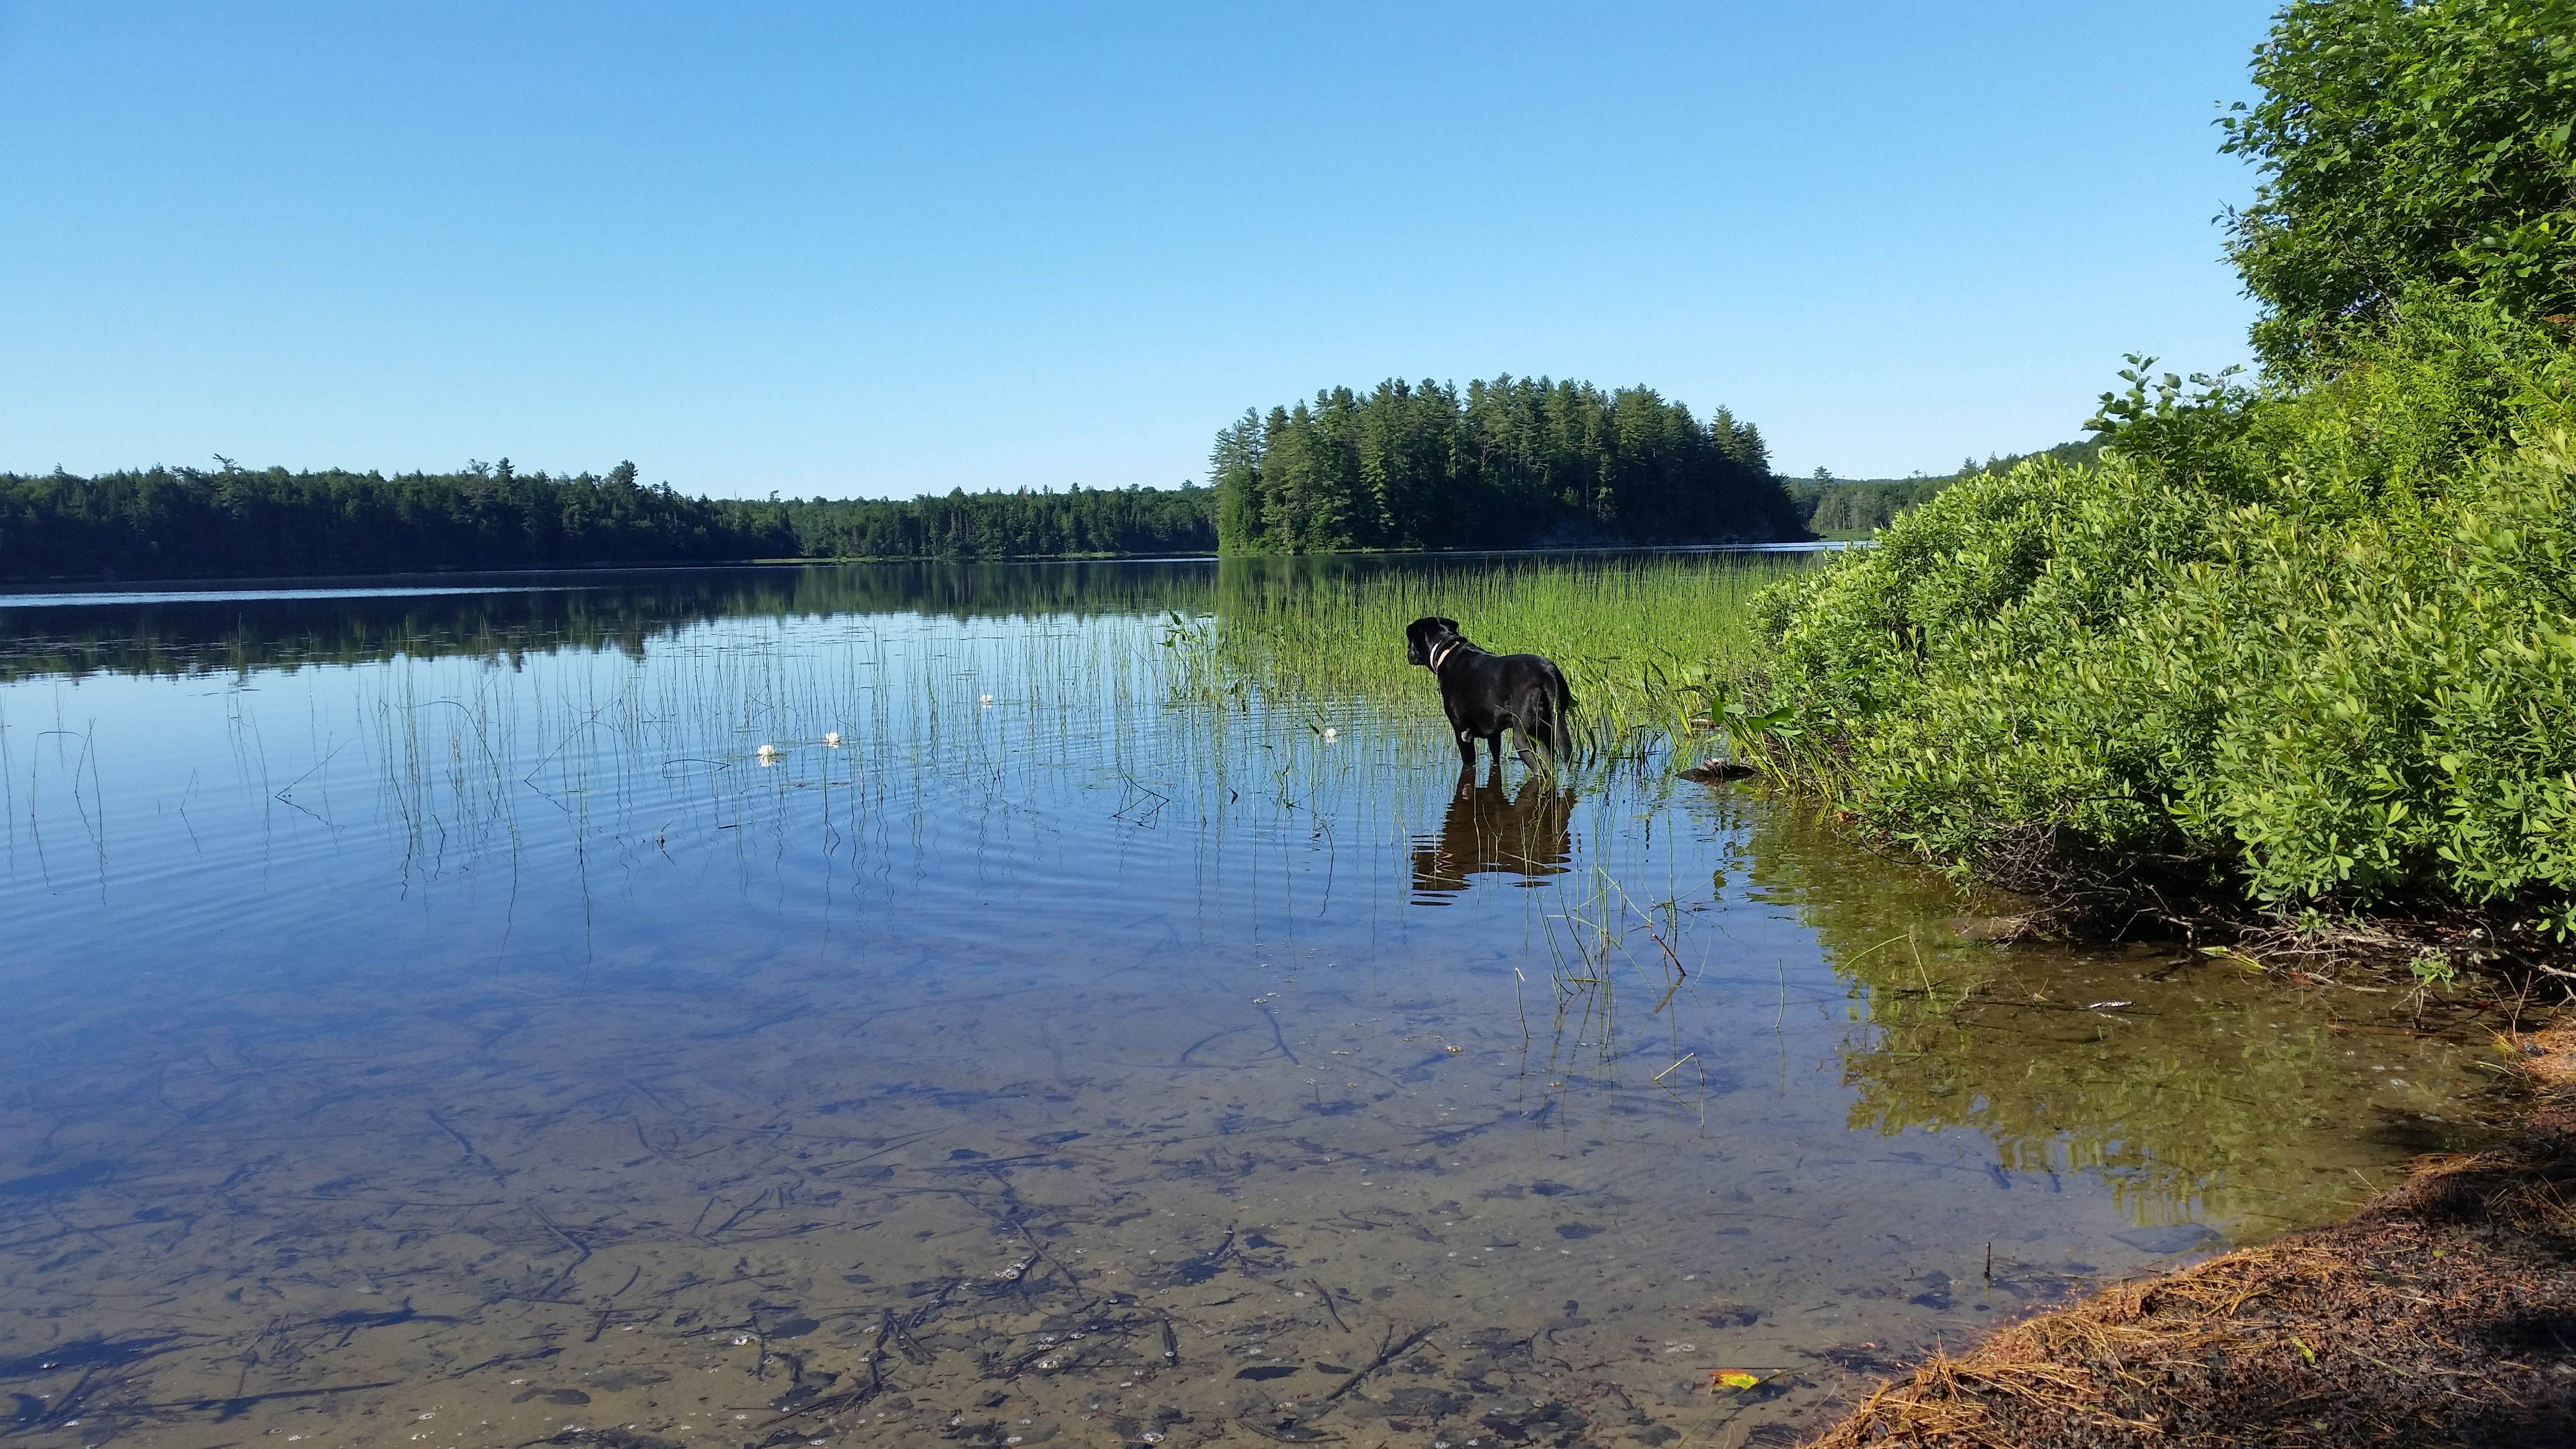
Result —
[[2563, 941], [2576, 5], [2298, 0], [2254, 72], [2267, 382], [2130, 358], [2097, 467], [1960, 482], [1770, 593], [1736, 730], [1968, 871]]

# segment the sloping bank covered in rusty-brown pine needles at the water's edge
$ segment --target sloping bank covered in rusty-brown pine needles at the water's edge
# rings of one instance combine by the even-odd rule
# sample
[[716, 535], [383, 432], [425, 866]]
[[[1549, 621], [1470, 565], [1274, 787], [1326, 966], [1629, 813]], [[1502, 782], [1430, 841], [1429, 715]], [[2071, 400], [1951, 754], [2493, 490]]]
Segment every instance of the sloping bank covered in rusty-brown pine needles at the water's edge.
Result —
[[2506, 1047], [2512, 1145], [1940, 1356], [1814, 1449], [2576, 1444], [2576, 1024]]

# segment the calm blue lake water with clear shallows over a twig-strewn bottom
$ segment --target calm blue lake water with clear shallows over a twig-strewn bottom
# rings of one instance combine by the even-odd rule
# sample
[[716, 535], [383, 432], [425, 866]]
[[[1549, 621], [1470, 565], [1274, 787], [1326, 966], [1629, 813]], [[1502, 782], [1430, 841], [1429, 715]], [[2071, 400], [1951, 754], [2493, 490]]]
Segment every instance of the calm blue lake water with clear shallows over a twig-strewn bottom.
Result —
[[1427, 676], [1177, 696], [1226, 598], [0, 596], [0, 1434], [1783, 1444], [2499, 1111]]

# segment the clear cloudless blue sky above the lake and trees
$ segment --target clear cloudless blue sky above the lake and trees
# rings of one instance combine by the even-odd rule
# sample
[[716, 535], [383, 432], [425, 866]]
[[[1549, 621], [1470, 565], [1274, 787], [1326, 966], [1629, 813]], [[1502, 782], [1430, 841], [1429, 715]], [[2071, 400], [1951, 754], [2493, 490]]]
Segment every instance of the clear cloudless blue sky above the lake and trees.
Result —
[[2267, 10], [0, 3], [0, 467], [1172, 485], [1512, 371], [1947, 472], [2246, 356]]

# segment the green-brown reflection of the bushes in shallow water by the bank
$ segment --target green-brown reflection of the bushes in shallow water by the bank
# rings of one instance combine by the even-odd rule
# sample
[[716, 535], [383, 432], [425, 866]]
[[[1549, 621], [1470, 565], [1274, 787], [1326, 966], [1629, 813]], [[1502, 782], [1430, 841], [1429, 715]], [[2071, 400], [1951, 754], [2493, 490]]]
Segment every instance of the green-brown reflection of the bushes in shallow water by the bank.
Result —
[[1850, 982], [1852, 1127], [1971, 1127], [2002, 1186], [2089, 1173], [2141, 1227], [2239, 1238], [2334, 1217], [2391, 1147], [2481, 1137], [2421, 1085], [2473, 1075], [2476, 1047], [2416, 1029], [2401, 993], [2293, 987], [2172, 941], [1971, 941], [1927, 923], [2012, 902], [1832, 848], [1808, 810], [1747, 815], [1754, 887], [1795, 905]]

